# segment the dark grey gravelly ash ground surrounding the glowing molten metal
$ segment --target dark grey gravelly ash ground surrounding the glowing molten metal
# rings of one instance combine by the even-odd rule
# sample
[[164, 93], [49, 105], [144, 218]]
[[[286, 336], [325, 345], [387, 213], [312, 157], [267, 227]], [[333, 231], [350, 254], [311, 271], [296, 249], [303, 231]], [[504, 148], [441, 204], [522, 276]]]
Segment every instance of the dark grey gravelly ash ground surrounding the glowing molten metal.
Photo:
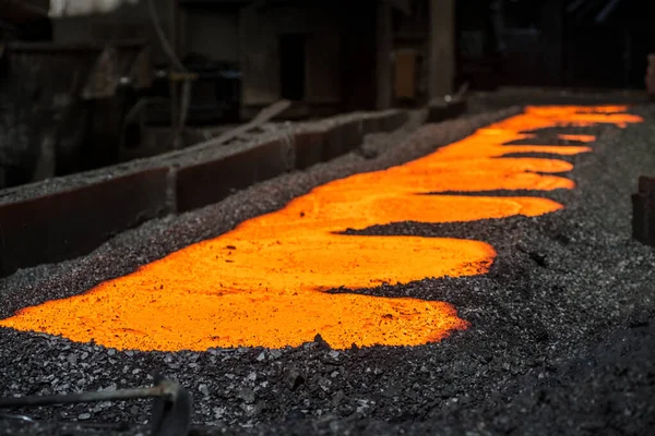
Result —
[[[570, 158], [576, 190], [536, 193], [562, 202], [563, 211], [472, 223], [400, 222], [362, 232], [479, 239], [496, 247], [499, 257], [486, 276], [358, 291], [454, 304], [473, 327], [440, 343], [143, 353], [0, 329], [0, 395], [142, 386], [159, 371], [193, 393], [195, 422], [213, 426], [199, 426], [198, 434], [650, 434], [655, 251], [631, 241], [630, 194], [638, 175], [655, 172], [655, 108], [632, 111], [646, 122], [593, 129], [599, 134], [595, 152]], [[359, 154], [148, 222], [84, 258], [20, 271], [0, 281], [0, 317], [84, 291], [325, 181], [425, 155], [510, 113], [429, 126], [401, 146], [412, 126], [377, 135]], [[143, 423], [150, 404], [23, 412], [39, 420]], [[16, 426], [0, 420], [0, 434], [16, 434]], [[138, 433], [134, 426], [23, 427], [23, 434], [44, 435]]]

